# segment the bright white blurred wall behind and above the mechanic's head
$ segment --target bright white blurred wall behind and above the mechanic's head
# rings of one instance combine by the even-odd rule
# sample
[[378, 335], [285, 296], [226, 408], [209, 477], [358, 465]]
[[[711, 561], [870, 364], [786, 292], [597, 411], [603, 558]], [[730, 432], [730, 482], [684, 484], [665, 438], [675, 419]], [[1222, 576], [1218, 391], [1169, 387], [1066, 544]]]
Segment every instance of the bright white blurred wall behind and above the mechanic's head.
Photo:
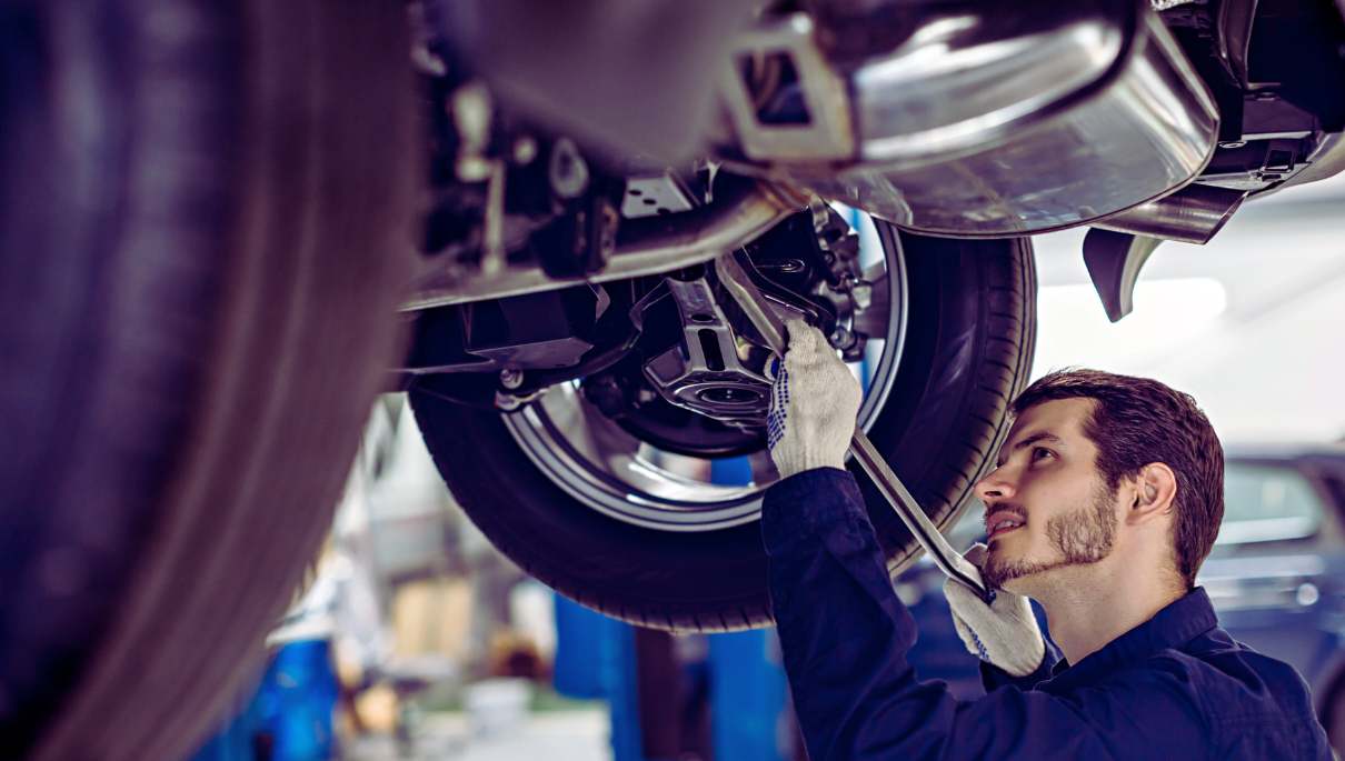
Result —
[[1345, 437], [1345, 180], [1248, 202], [1206, 246], [1163, 243], [1107, 323], [1083, 230], [1036, 239], [1034, 375], [1080, 364], [1188, 391], [1225, 442]]

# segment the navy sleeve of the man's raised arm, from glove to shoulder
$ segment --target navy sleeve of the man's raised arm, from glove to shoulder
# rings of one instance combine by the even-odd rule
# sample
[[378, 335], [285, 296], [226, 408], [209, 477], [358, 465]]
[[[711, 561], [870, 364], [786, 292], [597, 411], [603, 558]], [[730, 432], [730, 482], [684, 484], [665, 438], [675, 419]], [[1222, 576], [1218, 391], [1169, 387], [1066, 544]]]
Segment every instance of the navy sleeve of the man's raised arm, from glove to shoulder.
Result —
[[1065, 696], [1002, 687], [968, 702], [942, 682], [919, 682], [905, 657], [915, 621], [847, 472], [819, 468], [773, 485], [761, 532], [812, 761], [1132, 758], [1154, 742], [1166, 756], [1206, 756], [1202, 713], [1163, 672]]

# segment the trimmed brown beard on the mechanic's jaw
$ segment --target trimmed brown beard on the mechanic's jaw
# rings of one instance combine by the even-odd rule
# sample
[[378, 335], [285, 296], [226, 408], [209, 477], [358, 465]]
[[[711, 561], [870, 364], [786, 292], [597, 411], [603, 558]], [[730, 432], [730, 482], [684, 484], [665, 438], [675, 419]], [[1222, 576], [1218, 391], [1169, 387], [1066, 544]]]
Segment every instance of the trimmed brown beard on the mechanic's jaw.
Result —
[[1046, 538], [1059, 553], [1052, 561], [1011, 561], [994, 553], [986, 557], [981, 575], [999, 589], [1005, 582], [1052, 569], [1096, 563], [1111, 554], [1116, 542], [1115, 495], [1098, 484], [1092, 504], [1080, 507], [1046, 522]]

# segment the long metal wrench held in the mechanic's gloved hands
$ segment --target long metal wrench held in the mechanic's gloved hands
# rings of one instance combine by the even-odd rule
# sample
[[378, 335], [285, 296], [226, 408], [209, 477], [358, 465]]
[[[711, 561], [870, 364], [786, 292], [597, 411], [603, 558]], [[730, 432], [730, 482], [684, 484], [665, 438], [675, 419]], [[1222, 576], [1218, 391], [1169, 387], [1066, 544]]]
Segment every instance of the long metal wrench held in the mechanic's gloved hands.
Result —
[[[784, 321], [775, 313], [767, 303], [765, 296], [756, 284], [742, 270], [733, 251], [721, 255], [714, 262], [720, 282], [738, 303], [752, 325], [761, 333], [771, 350], [784, 362], [785, 328]], [[892, 471], [888, 463], [878, 454], [878, 450], [869, 441], [863, 429], [855, 424], [850, 436], [850, 453], [854, 454], [859, 468], [873, 480], [873, 485], [888, 500], [897, 518], [907, 524], [907, 528], [920, 542], [920, 546], [929, 553], [929, 558], [950, 578], [974, 589], [987, 604], [994, 600], [994, 593], [981, 581], [981, 573], [967, 558], [952, 549], [952, 545], [939, 532], [929, 516], [920, 508], [911, 491], [907, 489], [901, 479]]]

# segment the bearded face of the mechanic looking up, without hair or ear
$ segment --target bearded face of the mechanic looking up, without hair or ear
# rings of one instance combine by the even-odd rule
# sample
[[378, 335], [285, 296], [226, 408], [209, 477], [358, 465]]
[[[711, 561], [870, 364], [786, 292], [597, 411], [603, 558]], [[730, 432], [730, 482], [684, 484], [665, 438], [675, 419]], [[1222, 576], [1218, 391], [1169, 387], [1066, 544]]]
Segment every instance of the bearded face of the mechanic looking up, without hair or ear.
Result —
[[976, 484], [989, 535], [982, 573], [991, 586], [1028, 593], [1054, 569], [1111, 553], [1116, 499], [1084, 434], [1093, 403], [1057, 399], [1025, 410], [999, 449], [998, 467]]

